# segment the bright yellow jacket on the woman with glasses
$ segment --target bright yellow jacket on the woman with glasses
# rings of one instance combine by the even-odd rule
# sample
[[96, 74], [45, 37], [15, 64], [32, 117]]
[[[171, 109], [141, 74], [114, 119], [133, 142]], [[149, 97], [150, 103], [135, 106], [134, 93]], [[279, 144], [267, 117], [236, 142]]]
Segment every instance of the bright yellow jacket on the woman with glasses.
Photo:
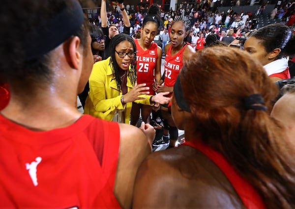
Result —
[[[118, 90], [115, 75], [109, 63], [110, 57], [93, 65], [89, 77], [90, 90], [85, 102], [84, 113], [96, 118], [112, 121], [116, 109], [125, 109], [124, 123], [129, 124], [132, 103], [122, 105], [122, 91]], [[133, 87], [130, 78], [127, 77], [127, 92]], [[149, 102], [150, 95], [143, 95], [143, 97], [146, 97], [146, 99], [135, 102], [152, 105]]]

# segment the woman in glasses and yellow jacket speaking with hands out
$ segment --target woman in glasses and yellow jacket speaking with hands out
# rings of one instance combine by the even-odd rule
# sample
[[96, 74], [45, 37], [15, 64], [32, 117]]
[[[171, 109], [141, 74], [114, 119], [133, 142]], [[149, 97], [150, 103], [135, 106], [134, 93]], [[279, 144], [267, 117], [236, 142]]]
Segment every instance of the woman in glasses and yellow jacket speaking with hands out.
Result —
[[89, 95], [85, 114], [108, 121], [129, 124], [132, 102], [153, 105], [166, 104], [169, 92], [151, 96], [146, 84], [136, 84], [136, 46], [126, 34], [111, 40], [111, 56], [96, 62], [89, 78]]

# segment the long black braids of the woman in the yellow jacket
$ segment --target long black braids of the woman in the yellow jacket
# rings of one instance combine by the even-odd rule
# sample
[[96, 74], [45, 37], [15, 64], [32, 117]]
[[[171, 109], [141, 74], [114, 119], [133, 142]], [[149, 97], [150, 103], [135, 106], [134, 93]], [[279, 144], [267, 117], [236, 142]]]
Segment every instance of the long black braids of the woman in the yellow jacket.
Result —
[[135, 85], [136, 82], [136, 45], [135, 42], [133, 40], [133, 38], [131, 38], [129, 35], [124, 34], [124, 33], [119, 33], [118, 35], [115, 35], [112, 39], [111, 39], [111, 43], [110, 43], [110, 54], [111, 54], [111, 59], [110, 59], [110, 67], [112, 69], [113, 74], [115, 75], [115, 79], [117, 82], [117, 87], [118, 90], [121, 90], [121, 79], [119, 76], [119, 66], [118, 63], [116, 61], [116, 47], [119, 43], [121, 43], [122, 41], [129, 41], [132, 45], [133, 45], [133, 50], [134, 50], [134, 58], [131, 62], [130, 65], [130, 69], [127, 72], [127, 76], [130, 78], [131, 83], [133, 85]]

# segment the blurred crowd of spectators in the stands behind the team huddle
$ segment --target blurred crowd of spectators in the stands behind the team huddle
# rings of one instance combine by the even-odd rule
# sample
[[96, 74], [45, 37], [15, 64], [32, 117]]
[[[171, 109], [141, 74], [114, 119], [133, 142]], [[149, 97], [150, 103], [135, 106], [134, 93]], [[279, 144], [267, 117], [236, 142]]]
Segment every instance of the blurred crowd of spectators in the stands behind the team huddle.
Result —
[[[164, 52], [165, 45], [169, 42], [169, 34], [171, 23], [178, 16], [184, 15], [191, 21], [190, 34], [186, 40], [194, 49], [203, 49], [206, 46], [205, 39], [208, 35], [214, 34], [219, 41], [230, 44], [235, 40], [236, 36], [242, 36], [246, 32], [251, 31], [257, 27], [260, 15], [263, 14], [266, 5], [262, 5], [257, 9], [255, 14], [248, 11], [234, 11], [230, 7], [227, 11], [219, 11], [217, 3], [210, 0], [198, 4], [181, 3], [177, 5], [174, 11], [172, 8], [169, 12], [164, 12], [159, 6], [159, 15], [161, 17], [161, 26], [159, 27], [159, 35], [162, 40], [162, 49]], [[269, 14], [269, 19], [277, 19], [277, 22], [284, 23], [288, 26], [294, 26], [295, 22], [295, 2], [289, 0], [276, 5], [273, 11]], [[115, 24], [119, 32], [123, 30], [124, 23], [122, 21], [121, 12], [117, 7], [109, 5], [107, 8], [108, 24]], [[126, 12], [130, 20], [130, 36], [133, 38], [140, 37], [140, 30], [143, 24], [144, 17], [147, 15], [148, 8], [143, 6], [126, 5]], [[94, 25], [101, 25], [101, 18], [90, 19]], [[166, 32], [167, 31], [167, 32]], [[168, 33], [168, 34], [167, 34]], [[200, 39], [198, 41], [198, 39]]]

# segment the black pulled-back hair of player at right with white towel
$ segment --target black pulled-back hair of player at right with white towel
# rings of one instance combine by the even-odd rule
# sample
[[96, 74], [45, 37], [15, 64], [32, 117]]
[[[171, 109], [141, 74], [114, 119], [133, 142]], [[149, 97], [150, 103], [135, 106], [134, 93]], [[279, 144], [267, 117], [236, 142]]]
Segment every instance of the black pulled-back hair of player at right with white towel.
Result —
[[264, 26], [252, 33], [251, 37], [261, 40], [260, 43], [265, 47], [266, 52], [271, 52], [276, 48], [281, 49], [276, 59], [295, 54], [295, 37], [292, 36], [292, 30], [284, 24]]

